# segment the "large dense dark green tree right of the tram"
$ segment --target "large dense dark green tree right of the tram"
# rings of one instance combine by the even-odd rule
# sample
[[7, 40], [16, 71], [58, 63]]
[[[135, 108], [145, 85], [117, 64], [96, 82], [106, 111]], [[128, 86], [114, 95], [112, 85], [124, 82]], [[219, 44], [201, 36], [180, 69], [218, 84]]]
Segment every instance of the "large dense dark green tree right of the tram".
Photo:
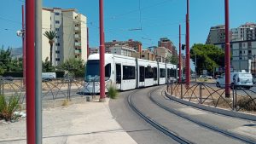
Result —
[[203, 70], [213, 73], [215, 67], [224, 66], [224, 51], [212, 44], [194, 44], [190, 49], [190, 58], [194, 62], [195, 55], [197, 73], [201, 73]]

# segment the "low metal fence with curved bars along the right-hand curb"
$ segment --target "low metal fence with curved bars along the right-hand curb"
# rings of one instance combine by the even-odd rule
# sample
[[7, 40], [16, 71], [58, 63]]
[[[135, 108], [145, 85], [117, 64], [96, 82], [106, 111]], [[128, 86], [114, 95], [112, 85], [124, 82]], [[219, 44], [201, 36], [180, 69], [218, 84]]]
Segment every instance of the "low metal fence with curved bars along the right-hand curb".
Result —
[[230, 109], [237, 112], [245, 111], [256, 113], [256, 87], [244, 89], [237, 85], [227, 86], [231, 89], [230, 97], [225, 96], [224, 88], [218, 88], [215, 84], [207, 83], [190, 83], [186, 85], [169, 81], [167, 84], [167, 92], [184, 101]]

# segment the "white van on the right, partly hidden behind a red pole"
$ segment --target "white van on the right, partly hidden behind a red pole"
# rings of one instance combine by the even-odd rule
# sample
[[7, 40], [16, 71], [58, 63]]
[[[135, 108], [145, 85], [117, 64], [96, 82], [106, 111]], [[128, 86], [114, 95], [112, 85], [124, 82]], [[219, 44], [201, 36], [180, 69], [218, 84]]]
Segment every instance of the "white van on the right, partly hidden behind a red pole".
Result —
[[[230, 82], [231, 86], [236, 85], [236, 87], [250, 89], [253, 87], [253, 75], [249, 72], [231, 72]], [[225, 74], [218, 77], [216, 86], [219, 88], [225, 87]]]

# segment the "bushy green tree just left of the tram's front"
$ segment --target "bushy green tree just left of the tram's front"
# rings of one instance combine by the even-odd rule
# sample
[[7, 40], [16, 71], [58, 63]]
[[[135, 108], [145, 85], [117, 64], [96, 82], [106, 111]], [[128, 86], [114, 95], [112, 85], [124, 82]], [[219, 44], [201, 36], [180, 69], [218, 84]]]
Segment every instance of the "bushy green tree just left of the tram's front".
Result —
[[75, 77], [84, 77], [85, 64], [84, 60], [72, 58], [66, 60], [60, 68], [68, 73], [74, 74]]

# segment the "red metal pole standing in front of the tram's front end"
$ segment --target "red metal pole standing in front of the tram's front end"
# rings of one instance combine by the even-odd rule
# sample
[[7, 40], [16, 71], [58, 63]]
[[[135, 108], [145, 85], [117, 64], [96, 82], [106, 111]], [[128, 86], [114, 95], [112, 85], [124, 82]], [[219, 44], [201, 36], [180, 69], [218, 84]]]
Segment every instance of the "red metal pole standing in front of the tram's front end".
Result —
[[105, 101], [105, 42], [103, 0], [100, 0], [100, 101]]

